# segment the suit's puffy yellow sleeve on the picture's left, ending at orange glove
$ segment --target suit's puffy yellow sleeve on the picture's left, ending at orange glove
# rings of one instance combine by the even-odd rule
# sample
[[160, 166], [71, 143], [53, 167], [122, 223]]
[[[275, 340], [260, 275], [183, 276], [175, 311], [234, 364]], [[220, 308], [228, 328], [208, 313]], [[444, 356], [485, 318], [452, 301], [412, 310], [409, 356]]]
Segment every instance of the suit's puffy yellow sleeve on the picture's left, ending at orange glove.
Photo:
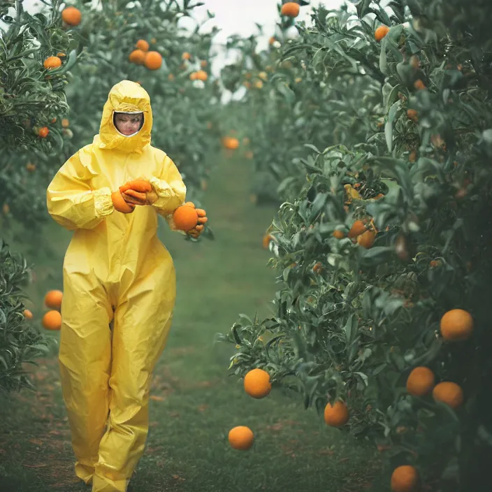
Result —
[[48, 212], [66, 229], [94, 229], [114, 210], [111, 190], [92, 189], [93, 174], [80, 160], [80, 150], [59, 168], [46, 191]]

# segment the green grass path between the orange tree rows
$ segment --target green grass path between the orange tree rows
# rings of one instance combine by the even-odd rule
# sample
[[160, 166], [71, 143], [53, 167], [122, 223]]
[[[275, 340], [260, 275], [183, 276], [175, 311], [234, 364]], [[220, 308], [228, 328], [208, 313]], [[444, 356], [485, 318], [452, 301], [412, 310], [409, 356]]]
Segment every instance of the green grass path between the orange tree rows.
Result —
[[[249, 398], [228, 376], [233, 347], [214, 345], [238, 313], [270, 313], [275, 272], [261, 238], [273, 208], [249, 202], [249, 164], [224, 159], [206, 198], [215, 241], [185, 242], [164, 229], [173, 255], [178, 297], [171, 335], [154, 373], [147, 449], [133, 491], [382, 491], [380, 461], [363, 442], [328, 428], [301, 398], [274, 389]], [[29, 255], [36, 282], [29, 287], [36, 319], [45, 291], [61, 288], [61, 265], [70, 239], [54, 222], [45, 231], [55, 254]], [[24, 247], [27, 250], [27, 247]], [[57, 337], [57, 334], [55, 334]], [[0, 491], [89, 490], [73, 474], [68, 422], [61, 400], [56, 355], [34, 374], [36, 392], [0, 401]], [[233, 426], [255, 433], [247, 452], [229, 447]]]

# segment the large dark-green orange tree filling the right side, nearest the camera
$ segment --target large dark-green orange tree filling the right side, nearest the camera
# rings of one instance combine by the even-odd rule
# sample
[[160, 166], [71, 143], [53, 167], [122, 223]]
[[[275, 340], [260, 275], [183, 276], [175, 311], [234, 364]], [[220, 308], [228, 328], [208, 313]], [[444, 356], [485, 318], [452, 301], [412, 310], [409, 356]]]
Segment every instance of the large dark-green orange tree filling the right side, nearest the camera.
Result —
[[491, 9], [315, 11], [290, 55], [327, 86], [322, 66], [351, 66], [354, 99], [381, 94], [384, 126], [300, 160], [303, 187], [272, 225], [275, 312], [219, 337], [236, 344], [234, 374], [263, 368], [377, 444], [396, 492], [489, 483]]

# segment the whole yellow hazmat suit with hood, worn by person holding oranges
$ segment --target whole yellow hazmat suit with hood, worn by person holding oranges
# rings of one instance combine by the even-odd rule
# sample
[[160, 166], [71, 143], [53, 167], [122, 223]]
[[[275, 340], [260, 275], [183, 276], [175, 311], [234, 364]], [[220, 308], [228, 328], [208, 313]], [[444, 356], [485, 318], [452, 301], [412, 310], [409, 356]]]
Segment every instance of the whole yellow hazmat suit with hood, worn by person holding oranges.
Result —
[[[143, 126], [123, 136], [115, 112], [143, 112]], [[63, 267], [59, 364], [75, 472], [93, 492], [126, 491], [143, 454], [150, 379], [173, 317], [175, 270], [157, 238], [157, 214], [174, 229], [186, 187], [173, 161], [150, 145], [151, 129], [149, 95], [123, 80], [110, 91], [99, 135], [47, 191], [50, 215], [75, 231]], [[111, 193], [138, 178], [152, 184], [157, 201], [117, 212]]]

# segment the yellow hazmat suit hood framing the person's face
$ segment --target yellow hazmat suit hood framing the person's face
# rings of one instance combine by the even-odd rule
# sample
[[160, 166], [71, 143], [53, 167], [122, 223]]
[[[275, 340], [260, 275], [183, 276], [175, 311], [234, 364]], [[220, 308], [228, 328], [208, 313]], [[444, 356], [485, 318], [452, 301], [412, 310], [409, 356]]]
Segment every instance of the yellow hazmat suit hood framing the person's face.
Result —
[[[114, 123], [115, 113], [143, 113], [143, 125], [131, 136], [120, 133]], [[152, 132], [152, 108], [147, 91], [131, 80], [122, 80], [114, 85], [103, 108], [99, 135], [94, 145], [101, 149], [115, 149], [122, 152], [138, 152], [150, 144]]]

